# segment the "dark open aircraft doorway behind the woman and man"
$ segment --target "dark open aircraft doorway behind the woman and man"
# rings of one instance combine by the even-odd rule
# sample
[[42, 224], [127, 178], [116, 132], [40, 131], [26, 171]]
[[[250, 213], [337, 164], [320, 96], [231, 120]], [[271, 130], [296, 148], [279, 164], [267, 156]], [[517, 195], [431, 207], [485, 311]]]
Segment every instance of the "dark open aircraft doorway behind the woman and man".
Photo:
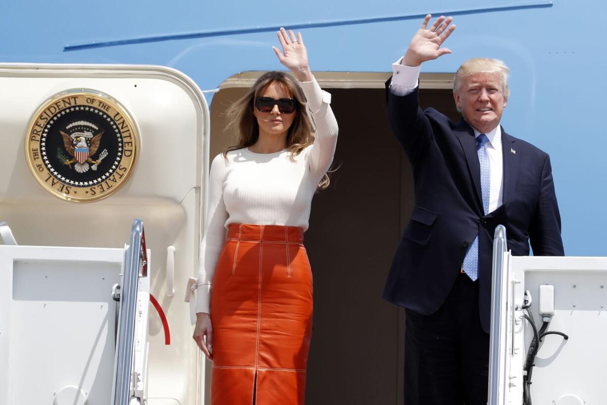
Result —
[[[211, 158], [236, 143], [223, 131], [226, 108], [262, 73], [239, 73], [214, 95]], [[386, 118], [389, 75], [315, 75], [332, 95], [339, 140], [333, 161], [338, 169], [330, 187], [314, 196], [305, 234], [314, 276], [306, 404], [401, 405], [404, 311], [381, 293], [414, 199], [409, 162]], [[452, 78], [422, 75], [422, 107], [458, 117]]]

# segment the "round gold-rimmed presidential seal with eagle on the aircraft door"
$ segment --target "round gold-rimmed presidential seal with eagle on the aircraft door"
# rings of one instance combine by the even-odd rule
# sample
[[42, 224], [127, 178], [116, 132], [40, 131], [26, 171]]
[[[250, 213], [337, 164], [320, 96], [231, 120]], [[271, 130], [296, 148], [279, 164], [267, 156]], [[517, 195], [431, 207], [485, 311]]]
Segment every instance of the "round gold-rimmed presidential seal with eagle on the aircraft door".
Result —
[[128, 112], [94, 90], [53, 96], [33, 115], [25, 154], [47, 191], [73, 202], [114, 194], [135, 168], [139, 134]]

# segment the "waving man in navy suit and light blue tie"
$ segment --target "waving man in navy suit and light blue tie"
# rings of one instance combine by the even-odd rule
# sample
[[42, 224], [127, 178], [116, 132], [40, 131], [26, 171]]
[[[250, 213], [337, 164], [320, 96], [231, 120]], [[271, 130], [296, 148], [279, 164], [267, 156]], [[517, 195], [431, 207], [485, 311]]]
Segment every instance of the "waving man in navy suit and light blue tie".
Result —
[[509, 95], [502, 61], [459, 67], [461, 120], [418, 106], [421, 64], [451, 53], [455, 29], [427, 15], [387, 81], [388, 119], [413, 168], [415, 208], [384, 298], [405, 307], [405, 404], [486, 404], [492, 240], [506, 226], [515, 256], [562, 256], [548, 154], [500, 126]]

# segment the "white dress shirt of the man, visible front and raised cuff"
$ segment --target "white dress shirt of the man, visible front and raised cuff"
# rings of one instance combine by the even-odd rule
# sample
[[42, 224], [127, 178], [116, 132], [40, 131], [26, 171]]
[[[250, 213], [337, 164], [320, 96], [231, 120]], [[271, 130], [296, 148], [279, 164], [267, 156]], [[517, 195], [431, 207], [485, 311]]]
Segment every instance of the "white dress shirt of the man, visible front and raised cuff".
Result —
[[[390, 92], [394, 95], [403, 96], [410, 94], [415, 90], [419, 83], [419, 66], [405, 66], [402, 64], [402, 58], [392, 64], [392, 82], [390, 82]], [[478, 137], [480, 131], [474, 130], [474, 136]], [[501, 150], [501, 127], [498, 124], [492, 131], [487, 132], [489, 142], [485, 144], [487, 154], [489, 155], [489, 164], [491, 167], [491, 185], [489, 190], [489, 212], [492, 213], [500, 208], [503, 203], [504, 194], [504, 163]], [[487, 213], [486, 213], [487, 214]]]

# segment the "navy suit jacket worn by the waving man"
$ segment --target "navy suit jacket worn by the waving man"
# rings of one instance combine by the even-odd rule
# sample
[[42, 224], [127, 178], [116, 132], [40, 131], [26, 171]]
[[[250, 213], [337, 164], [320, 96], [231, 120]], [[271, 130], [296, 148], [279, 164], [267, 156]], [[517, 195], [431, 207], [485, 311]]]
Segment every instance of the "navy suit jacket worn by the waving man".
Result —
[[479, 235], [481, 324], [490, 328], [493, 233], [506, 226], [514, 256], [563, 256], [561, 220], [548, 154], [501, 128], [503, 205], [483, 211], [473, 129], [418, 106], [418, 89], [390, 92], [388, 120], [413, 168], [415, 208], [388, 274], [384, 299], [429, 315], [447, 299], [467, 248]]

